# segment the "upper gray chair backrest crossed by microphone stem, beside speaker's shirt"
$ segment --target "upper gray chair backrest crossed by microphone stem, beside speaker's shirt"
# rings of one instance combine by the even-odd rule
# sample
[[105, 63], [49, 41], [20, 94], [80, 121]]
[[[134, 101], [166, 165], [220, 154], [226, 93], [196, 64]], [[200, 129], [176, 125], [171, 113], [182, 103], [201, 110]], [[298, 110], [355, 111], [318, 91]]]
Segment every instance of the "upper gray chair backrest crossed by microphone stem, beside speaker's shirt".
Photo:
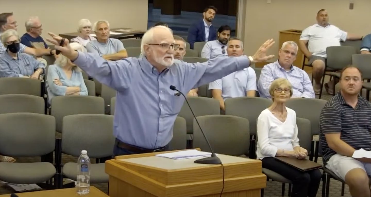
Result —
[[[220, 114], [220, 105], [217, 99], [195, 96], [190, 97], [187, 100], [196, 117]], [[185, 118], [185, 120], [187, 121], [187, 134], [192, 134], [194, 117], [187, 105], [187, 102], [184, 101], [184, 104], [180, 109], [178, 116]]]

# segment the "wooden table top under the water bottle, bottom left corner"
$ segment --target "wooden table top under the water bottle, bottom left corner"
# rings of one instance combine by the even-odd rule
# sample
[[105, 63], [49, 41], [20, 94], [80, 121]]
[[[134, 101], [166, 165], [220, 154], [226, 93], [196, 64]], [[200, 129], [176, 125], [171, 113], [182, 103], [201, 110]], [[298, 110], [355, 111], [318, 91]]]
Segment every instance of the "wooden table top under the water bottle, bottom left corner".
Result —
[[[24, 193], [16, 193], [19, 197], [80, 197], [76, 193], [76, 188], [66, 188], [59, 190], [43, 190], [43, 191], [31, 191]], [[10, 194], [3, 194], [0, 197], [9, 197]], [[83, 197], [108, 197], [107, 194], [98, 190], [98, 188], [90, 186], [90, 192]]]

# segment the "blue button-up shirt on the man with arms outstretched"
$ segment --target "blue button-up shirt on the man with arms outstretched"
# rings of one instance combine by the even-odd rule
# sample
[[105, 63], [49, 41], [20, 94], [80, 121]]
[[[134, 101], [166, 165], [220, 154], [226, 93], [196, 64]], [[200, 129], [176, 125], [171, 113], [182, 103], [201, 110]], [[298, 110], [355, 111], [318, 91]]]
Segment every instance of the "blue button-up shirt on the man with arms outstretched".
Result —
[[220, 57], [204, 63], [177, 60], [160, 73], [145, 57], [106, 61], [82, 52], [74, 63], [117, 91], [115, 137], [149, 149], [164, 147], [173, 137], [174, 121], [184, 98], [175, 96], [177, 91], [171, 90], [170, 85], [186, 93], [250, 65], [246, 56]]

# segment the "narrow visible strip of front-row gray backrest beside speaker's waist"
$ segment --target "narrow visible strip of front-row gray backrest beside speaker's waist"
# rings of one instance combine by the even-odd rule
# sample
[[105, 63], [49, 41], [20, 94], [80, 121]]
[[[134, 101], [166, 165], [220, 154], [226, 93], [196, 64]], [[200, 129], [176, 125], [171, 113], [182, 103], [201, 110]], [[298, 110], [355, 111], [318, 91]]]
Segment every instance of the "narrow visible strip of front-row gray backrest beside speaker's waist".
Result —
[[177, 116], [173, 126], [173, 139], [169, 150], [184, 150], [187, 148], [187, 123], [184, 118]]

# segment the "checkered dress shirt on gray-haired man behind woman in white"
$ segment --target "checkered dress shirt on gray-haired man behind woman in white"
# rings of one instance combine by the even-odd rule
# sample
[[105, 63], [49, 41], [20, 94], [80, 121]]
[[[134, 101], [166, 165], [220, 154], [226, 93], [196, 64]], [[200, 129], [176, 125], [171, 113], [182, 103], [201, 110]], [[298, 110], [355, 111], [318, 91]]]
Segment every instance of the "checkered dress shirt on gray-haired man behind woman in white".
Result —
[[290, 70], [285, 70], [279, 65], [278, 61], [263, 67], [257, 85], [259, 96], [272, 98], [269, 93], [269, 87], [278, 78], [289, 80], [293, 89], [293, 97], [315, 98], [312, 82], [308, 74], [296, 66], [291, 66]]

